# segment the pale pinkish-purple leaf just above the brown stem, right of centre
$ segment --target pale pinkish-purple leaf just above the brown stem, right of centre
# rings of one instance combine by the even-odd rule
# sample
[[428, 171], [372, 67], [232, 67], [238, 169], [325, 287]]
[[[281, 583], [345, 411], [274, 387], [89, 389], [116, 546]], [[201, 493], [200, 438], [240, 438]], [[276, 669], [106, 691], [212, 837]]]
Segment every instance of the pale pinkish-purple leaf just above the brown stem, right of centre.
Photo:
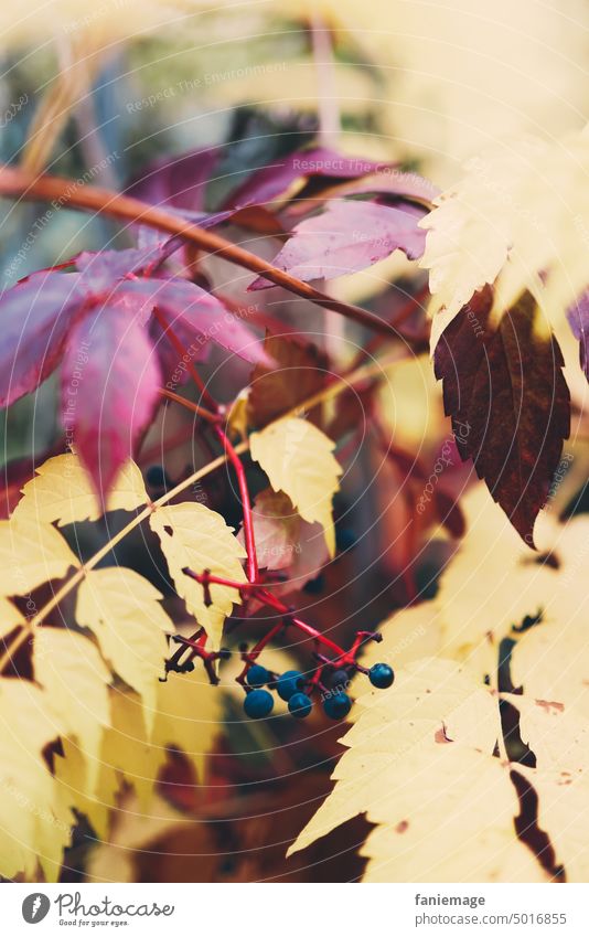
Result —
[[[415, 212], [374, 202], [330, 202], [325, 212], [292, 230], [274, 266], [307, 283], [363, 270], [397, 248], [415, 260], [426, 243], [418, 220]], [[248, 289], [270, 286], [269, 280], [258, 277]]]

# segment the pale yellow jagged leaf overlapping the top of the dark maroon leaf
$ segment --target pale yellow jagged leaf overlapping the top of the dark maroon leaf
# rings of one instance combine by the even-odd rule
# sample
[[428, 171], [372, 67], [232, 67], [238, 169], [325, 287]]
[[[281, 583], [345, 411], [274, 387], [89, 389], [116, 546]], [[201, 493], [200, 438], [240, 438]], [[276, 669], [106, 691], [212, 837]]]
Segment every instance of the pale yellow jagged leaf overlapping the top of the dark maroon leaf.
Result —
[[528, 137], [467, 164], [420, 222], [428, 230], [420, 266], [445, 323], [485, 284], [495, 286], [497, 317], [524, 290], [555, 321], [564, 316], [588, 285], [579, 236], [589, 228], [588, 170], [583, 134]]

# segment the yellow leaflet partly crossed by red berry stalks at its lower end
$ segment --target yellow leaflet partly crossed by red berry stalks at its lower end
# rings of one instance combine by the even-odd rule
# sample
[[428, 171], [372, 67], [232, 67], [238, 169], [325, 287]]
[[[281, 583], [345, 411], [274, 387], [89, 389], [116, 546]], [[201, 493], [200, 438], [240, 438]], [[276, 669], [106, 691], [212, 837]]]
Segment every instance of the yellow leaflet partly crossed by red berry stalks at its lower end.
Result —
[[150, 524], [160, 539], [178, 595], [206, 630], [212, 648], [218, 649], [223, 624], [234, 604], [240, 601], [239, 593], [227, 586], [212, 585], [212, 605], [206, 607], [203, 587], [182, 569], [189, 567], [194, 573], [208, 569], [215, 576], [245, 583], [246, 576], [239, 562], [246, 555], [245, 550], [222, 515], [204, 504], [158, 508], [151, 514]]

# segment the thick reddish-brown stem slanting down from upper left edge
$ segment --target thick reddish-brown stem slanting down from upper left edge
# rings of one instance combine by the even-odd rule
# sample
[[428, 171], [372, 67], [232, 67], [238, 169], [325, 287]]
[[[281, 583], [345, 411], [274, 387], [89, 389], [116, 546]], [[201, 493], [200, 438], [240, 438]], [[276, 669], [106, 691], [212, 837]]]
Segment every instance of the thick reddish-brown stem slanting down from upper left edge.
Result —
[[323, 309], [332, 309], [349, 319], [353, 319], [361, 326], [365, 326], [387, 336], [396, 334], [395, 330], [379, 316], [360, 306], [353, 306], [321, 292], [297, 277], [285, 273], [285, 270], [261, 260], [256, 254], [238, 247], [225, 237], [204, 231], [180, 215], [172, 214], [157, 205], [149, 205], [139, 199], [121, 195], [109, 189], [94, 185], [81, 185], [71, 179], [57, 175], [39, 175], [24, 172], [12, 167], [0, 169], [0, 196], [21, 198], [28, 201], [51, 202], [56, 207], [68, 205], [83, 211], [106, 214], [135, 224], [143, 224], [169, 234], [175, 234], [195, 244], [201, 251], [216, 254], [225, 260], [245, 267], [258, 276], [265, 277], [276, 286], [281, 286], [303, 299], [321, 306]]

